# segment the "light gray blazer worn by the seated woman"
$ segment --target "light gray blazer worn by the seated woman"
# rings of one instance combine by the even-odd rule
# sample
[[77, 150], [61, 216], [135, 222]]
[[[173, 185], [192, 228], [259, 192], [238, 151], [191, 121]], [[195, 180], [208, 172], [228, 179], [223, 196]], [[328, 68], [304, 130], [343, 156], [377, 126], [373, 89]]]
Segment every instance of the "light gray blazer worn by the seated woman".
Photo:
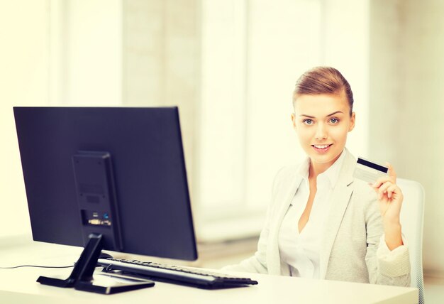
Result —
[[[355, 158], [345, 150], [343, 167], [331, 196], [321, 242], [321, 278], [337, 281], [410, 286], [409, 252], [395, 264], [379, 261], [384, 229], [377, 196], [367, 183], [353, 178]], [[297, 165], [282, 168], [274, 179], [272, 202], [254, 256], [225, 270], [289, 276], [279, 256], [278, 233], [301, 177]]]

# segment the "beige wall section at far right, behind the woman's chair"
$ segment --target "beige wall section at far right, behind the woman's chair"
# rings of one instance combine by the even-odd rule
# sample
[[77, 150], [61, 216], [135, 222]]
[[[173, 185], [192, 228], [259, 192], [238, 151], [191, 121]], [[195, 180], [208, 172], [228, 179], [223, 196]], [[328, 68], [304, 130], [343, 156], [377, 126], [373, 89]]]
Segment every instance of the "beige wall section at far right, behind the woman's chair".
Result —
[[371, 1], [370, 155], [426, 190], [425, 273], [444, 276], [444, 2]]

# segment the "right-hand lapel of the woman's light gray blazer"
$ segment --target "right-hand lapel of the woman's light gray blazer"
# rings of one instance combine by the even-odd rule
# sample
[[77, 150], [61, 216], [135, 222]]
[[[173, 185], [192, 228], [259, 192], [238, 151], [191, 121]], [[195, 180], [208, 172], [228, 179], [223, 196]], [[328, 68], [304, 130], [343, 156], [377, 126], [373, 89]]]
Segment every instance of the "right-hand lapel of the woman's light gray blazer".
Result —
[[323, 228], [323, 245], [319, 261], [321, 278], [326, 277], [331, 249], [353, 192], [353, 188], [350, 185], [353, 183], [355, 158], [353, 158], [348, 151], [346, 152], [347, 155], [345, 156], [346, 158], [343, 163], [343, 168], [340, 170], [338, 181], [331, 196], [330, 210], [327, 215], [326, 224]]

